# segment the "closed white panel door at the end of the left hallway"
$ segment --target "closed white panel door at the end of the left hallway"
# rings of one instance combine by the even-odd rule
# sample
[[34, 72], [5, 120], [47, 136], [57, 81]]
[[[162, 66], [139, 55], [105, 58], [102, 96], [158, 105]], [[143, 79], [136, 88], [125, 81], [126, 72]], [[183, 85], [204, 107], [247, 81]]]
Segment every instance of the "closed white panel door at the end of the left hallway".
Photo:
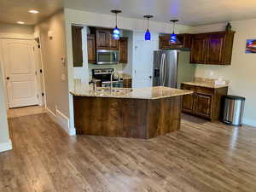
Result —
[[3, 65], [9, 108], [38, 105], [33, 40], [3, 40]]

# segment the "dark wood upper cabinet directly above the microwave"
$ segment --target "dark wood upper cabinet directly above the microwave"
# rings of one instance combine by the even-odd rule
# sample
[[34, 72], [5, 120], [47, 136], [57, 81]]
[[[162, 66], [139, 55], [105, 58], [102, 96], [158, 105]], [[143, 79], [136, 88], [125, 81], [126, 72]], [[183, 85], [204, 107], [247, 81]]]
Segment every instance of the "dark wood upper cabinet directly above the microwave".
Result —
[[96, 49], [119, 49], [119, 41], [112, 38], [112, 30], [96, 29]]

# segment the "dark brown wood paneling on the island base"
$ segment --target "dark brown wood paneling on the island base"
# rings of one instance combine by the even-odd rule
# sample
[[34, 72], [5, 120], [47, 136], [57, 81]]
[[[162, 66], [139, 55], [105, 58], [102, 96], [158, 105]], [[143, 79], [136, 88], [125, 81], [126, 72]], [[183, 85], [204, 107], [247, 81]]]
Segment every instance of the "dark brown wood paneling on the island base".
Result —
[[182, 96], [155, 100], [74, 96], [77, 134], [148, 139], [180, 129]]

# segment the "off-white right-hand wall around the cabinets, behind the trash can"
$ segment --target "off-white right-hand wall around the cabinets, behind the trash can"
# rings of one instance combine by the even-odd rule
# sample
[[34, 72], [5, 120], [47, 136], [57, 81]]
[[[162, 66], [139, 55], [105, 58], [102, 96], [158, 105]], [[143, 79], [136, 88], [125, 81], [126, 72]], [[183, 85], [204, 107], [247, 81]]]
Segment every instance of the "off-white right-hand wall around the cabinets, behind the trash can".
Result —
[[[246, 97], [244, 123], [253, 126], [256, 126], [256, 54], [246, 54], [245, 46], [247, 39], [256, 39], [255, 23], [256, 19], [233, 21], [231, 23], [232, 30], [236, 31], [236, 34], [230, 66], [197, 65], [195, 71], [197, 77], [222, 77], [230, 80], [229, 94]], [[193, 32], [224, 31], [224, 27], [224, 23], [196, 26]], [[211, 73], [213, 73], [212, 76]]]

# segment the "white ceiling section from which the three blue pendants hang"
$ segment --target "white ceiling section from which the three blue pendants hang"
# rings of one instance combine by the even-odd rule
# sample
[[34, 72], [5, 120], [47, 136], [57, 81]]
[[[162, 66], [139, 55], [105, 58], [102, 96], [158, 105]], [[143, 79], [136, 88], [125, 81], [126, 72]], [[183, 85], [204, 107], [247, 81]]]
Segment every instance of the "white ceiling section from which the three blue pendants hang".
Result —
[[131, 18], [178, 18], [181, 24], [191, 26], [256, 18], [255, 0], [64, 0], [64, 4], [67, 8], [102, 14], [121, 9], [123, 16]]

